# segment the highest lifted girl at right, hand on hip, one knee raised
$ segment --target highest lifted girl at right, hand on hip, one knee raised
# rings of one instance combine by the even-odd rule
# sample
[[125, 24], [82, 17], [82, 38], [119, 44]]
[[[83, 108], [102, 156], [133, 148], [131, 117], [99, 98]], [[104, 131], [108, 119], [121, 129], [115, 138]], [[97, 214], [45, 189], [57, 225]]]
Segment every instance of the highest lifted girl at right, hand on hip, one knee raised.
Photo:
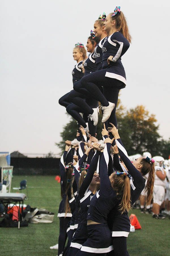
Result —
[[[126, 86], [126, 75], [121, 57], [129, 48], [131, 36], [120, 7], [116, 7], [114, 13], [106, 17], [104, 24], [105, 31], [109, 36], [102, 45], [103, 69], [83, 77], [81, 85], [96, 100], [101, 102], [103, 110], [102, 123], [105, 123], [110, 117], [109, 122], [117, 126], [115, 110], [113, 111], [113, 109], [116, 109], [119, 90]], [[79, 92], [79, 86], [77, 87], [76, 85], [75, 83], [73, 88]], [[103, 86], [103, 93], [100, 90], [101, 86]]]

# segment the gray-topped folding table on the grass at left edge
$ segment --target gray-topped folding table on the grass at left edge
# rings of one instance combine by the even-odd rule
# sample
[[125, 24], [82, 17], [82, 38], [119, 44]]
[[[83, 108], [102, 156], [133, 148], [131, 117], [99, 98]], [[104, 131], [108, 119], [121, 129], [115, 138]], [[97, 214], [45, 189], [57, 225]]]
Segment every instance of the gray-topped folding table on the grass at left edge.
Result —
[[[17, 203], [19, 203], [19, 210], [18, 210], [18, 229], [20, 228], [20, 209], [21, 209], [21, 216], [23, 214], [23, 204], [24, 199], [26, 195], [25, 194], [19, 194], [19, 193], [0, 193], [0, 203], [5, 206], [6, 212], [9, 210], [8, 205], [13, 204], [12, 207], [14, 207]], [[12, 209], [10, 207], [10, 209]]]

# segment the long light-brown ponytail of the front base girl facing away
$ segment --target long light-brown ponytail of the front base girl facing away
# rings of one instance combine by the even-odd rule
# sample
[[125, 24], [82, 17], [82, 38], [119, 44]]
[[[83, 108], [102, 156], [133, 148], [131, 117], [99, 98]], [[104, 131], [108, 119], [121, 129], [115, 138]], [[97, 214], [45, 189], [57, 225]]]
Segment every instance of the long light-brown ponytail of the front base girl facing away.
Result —
[[119, 176], [116, 173], [113, 174], [113, 189], [117, 191], [117, 197], [122, 198], [119, 204], [119, 210], [122, 213], [131, 209], [131, 192], [130, 192], [130, 180], [128, 176]]

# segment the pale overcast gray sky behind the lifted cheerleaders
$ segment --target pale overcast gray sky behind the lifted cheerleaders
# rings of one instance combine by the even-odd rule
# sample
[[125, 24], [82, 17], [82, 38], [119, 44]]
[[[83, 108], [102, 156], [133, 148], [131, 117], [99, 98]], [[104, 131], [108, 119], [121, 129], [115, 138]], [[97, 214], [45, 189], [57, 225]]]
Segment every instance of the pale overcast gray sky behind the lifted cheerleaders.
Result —
[[169, 138], [169, 1], [1, 0], [0, 151], [59, 152], [54, 143], [68, 116], [58, 100], [73, 88], [73, 47], [86, 45], [99, 14], [116, 5], [133, 38], [122, 57], [121, 102], [143, 104]]

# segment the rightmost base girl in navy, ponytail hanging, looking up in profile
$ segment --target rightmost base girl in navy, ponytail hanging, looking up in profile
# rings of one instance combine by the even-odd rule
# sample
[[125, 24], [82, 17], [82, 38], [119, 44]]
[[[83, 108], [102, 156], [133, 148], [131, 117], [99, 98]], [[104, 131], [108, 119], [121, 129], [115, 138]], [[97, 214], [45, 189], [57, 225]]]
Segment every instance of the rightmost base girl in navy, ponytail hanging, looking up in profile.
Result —
[[[124, 162], [126, 168], [119, 161], [114, 162], [114, 166], [118, 170], [131, 175], [131, 205], [139, 198], [141, 191], [145, 187], [145, 175], [148, 174], [148, 181], [146, 184], [146, 205], [150, 204], [152, 199], [153, 187], [154, 187], [154, 159], [140, 157], [133, 163], [129, 160], [128, 154], [118, 134], [116, 127], [110, 123], [112, 127], [108, 128], [108, 131], [112, 133], [115, 139], [116, 145], [114, 146], [115, 154], [120, 154], [120, 158]], [[116, 151], [116, 149], [118, 149]], [[114, 256], [124, 256], [126, 254], [126, 239], [130, 232], [130, 221], [127, 213], [120, 214], [119, 212], [111, 212], [112, 220], [112, 243], [114, 249]]]

